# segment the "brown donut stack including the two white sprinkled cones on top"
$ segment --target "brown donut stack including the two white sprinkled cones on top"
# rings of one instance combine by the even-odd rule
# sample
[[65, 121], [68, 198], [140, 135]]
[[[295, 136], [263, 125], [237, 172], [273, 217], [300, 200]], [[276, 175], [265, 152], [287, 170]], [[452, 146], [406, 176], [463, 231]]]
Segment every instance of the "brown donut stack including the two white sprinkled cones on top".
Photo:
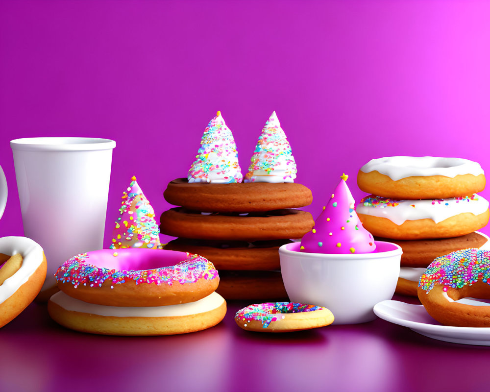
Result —
[[[217, 291], [225, 299], [285, 299], [279, 246], [301, 238], [314, 221], [296, 209], [310, 204], [312, 195], [294, 183], [296, 163], [275, 112], [250, 161], [243, 175], [233, 135], [218, 112], [204, 130], [187, 179], [168, 184], [165, 199], [181, 207], [161, 215], [160, 230], [178, 237], [165, 249], [197, 253], [216, 266]], [[294, 234], [293, 216], [301, 224]]]

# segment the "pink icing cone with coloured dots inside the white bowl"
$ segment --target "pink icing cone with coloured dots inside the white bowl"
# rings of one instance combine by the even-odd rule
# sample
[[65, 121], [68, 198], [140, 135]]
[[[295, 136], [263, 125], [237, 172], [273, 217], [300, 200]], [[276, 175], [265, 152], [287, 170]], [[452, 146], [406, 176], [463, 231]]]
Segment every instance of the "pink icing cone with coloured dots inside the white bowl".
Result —
[[334, 193], [323, 207], [312, 231], [301, 240], [301, 252], [371, 253], [376, 249], [371, 233], [366, 230], [354, 209], [344, 174]]

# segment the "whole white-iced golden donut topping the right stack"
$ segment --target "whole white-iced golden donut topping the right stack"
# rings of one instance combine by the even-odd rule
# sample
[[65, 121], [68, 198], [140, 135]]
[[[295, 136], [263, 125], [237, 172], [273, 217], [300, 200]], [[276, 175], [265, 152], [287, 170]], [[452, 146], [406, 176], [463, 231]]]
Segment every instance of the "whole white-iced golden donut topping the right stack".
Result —
[[358, 175], [359, 188], [394, 199], [468, 196], [485, 189], [481, 166], [463, 158], [391, 156], [370, 160]]

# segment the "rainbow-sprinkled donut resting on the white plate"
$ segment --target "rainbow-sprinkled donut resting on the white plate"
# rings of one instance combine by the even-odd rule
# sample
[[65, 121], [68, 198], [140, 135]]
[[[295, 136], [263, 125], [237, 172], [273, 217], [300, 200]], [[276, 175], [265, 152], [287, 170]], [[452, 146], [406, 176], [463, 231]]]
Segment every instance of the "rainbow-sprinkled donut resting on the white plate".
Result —
[[490, 306], [456, 302], [490, 299], [490, 251], [459, 250], [435, 259], [420, 277], [418, 299], [444, 325], [490, 327]]

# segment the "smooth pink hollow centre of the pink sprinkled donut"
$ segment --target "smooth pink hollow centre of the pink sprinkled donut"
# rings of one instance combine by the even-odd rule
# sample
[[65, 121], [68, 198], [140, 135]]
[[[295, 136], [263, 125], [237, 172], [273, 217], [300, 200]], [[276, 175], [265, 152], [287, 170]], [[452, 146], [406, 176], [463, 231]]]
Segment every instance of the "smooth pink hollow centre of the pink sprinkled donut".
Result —
[[171, 267], [187, 258], [187, 254], [178, 251], [161, 252], [157, 249], [118, 249], [113, 257], [92, 255], [87, 262], [109, 270], [156, 270]]

